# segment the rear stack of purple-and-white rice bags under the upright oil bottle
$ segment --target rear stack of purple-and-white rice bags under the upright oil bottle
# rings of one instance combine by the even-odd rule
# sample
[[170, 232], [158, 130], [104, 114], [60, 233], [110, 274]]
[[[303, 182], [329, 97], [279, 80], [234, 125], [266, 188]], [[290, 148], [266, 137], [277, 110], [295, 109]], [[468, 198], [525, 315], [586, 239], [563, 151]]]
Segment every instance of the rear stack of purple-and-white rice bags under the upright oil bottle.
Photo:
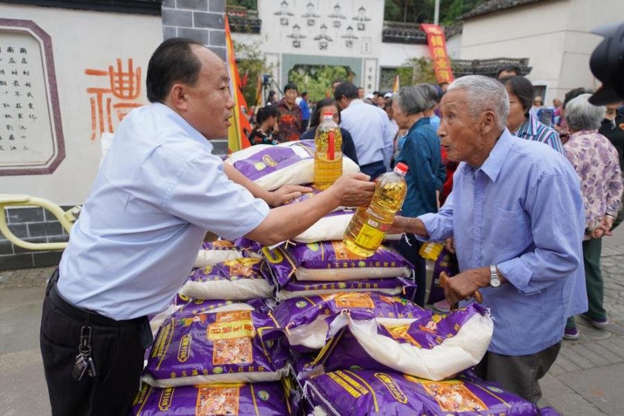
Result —
[[[283, 185], [314, 181], [314, 150], [314, 141], [256, 145], [231, 154], [226, 163], [265, 190], [276, 190]], [[358, 166], [344, 157], [343, 173], [355, 172], [359, 172]], [[289, 204], [305, 201], [318, 192], [307, 193]], [[410, 285], [405, 278], [411, 275], [411, 264], [392, 248], [382, 247], [373, 257], [358, 257], [346, 251], [341, 239], [353, 214], [352, 209], [341, 207], [292, 242], [262, 250], [278, 289], [278, 300], [338, 291], [399, 294]]]

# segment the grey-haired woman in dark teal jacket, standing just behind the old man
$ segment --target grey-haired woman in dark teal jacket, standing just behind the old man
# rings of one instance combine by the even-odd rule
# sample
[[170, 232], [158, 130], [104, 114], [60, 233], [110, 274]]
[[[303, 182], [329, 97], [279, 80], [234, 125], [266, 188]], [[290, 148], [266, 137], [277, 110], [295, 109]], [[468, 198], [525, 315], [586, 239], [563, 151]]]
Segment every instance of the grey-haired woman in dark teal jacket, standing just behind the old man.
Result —
[[[393, 97], [393, 118], [399, 129], [408, 129], [404, 145], [397, 162], [409, 166], [407, 172], [407, 197], [403, 203], [405, 217], [418, 217], [427, 212], [437, 212], [436, 191], [442, 190], [446, 177], [440, 158], [440, 139], [423, 111], [430, 102], [418, 87], [402, 88]], [[414, 265], [418, 291], [414, 301], [425, 302], [425, 260], [418, 255], [420, 242], [413, 235], [407, 235], [409, 242], [401, 241], [398, 250]]]

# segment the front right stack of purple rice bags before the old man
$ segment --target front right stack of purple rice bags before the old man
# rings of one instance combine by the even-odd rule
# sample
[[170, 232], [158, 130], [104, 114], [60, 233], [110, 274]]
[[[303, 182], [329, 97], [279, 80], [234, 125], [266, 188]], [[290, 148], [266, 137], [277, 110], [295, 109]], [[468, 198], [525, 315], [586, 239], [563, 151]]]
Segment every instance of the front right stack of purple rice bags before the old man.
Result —
[[294, 368], [307, 414], [557, 415], [467, 371], [492, 336], [479, 305], [440, 315], [383, 293], [334, 293], [285, 300], [274, 316], [304, 353]]

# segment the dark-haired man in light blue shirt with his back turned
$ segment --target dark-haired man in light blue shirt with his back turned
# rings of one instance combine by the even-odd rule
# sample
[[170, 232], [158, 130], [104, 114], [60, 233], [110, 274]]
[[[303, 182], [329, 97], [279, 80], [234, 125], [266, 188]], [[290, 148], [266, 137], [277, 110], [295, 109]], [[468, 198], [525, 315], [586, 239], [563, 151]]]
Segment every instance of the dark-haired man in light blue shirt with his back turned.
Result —
[[373, 179], [390, 170], [395, 131], [386, 111], [360, 100], [350, 82], [339, 84], [334, 98], [341, 109], [340, 127], [353, 137], [360, 170]]

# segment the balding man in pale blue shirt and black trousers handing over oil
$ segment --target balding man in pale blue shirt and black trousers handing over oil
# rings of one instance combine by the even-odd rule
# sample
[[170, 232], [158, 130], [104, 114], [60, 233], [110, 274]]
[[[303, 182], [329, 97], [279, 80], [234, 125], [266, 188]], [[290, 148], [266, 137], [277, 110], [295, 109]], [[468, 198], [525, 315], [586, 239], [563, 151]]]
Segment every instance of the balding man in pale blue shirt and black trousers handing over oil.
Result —
[[262, 244], [294, 237], [338, 206], [367, 204], [364, 174], [301, 204], [211, 154], [234, 102], [224, 62], [190, 39], [152, 55], [152, 105], [126, 116], [46, 289], [40, 334], [53, 416], [125, 415], [139, 388], [146, 316], [184, 284], [206, 230]]

